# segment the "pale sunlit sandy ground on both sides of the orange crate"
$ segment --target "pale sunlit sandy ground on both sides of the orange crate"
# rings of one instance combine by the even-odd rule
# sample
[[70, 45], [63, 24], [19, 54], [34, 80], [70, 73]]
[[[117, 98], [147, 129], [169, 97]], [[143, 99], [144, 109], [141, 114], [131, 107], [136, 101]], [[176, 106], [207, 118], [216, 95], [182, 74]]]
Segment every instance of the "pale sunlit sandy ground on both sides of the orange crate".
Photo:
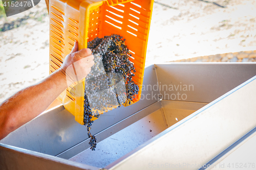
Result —
[[[223, 8], [224, 7], [224, 8]], [[0, 103], [49, 74], [49, 17], [44, 1], [4, 23], [0, 32]], [[146, 65], [203, 55], [256, 50], [256, 1], [158, 0], [154, 3]]]

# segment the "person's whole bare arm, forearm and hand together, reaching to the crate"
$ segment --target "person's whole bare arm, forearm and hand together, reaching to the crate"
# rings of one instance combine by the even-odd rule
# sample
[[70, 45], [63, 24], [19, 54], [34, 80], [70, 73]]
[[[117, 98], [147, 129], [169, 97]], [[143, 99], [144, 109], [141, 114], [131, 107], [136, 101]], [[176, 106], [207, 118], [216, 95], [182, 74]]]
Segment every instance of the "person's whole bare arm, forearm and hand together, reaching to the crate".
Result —
[[89, 74], [94, 65], [92, 52], [77, 51], [77, 46], [76, 42], [60, 69], [0, 104], [0, 140], [45, 111], [63, 90]]

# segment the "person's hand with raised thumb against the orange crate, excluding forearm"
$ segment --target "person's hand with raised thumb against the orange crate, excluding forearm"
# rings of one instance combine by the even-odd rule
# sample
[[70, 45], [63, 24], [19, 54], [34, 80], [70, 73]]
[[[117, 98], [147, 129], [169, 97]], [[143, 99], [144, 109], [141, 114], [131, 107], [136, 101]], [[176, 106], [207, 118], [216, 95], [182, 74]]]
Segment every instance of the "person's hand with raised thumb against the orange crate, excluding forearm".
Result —
[[65, 73], [67, 84], [70, 86], [73, 82], [77, 82], [85, 78], [94, 65], [94, 57], [89, 48], [78, 50], [78, 43], [75, 42], [74, 47], [61, 66], [61, 70]]

